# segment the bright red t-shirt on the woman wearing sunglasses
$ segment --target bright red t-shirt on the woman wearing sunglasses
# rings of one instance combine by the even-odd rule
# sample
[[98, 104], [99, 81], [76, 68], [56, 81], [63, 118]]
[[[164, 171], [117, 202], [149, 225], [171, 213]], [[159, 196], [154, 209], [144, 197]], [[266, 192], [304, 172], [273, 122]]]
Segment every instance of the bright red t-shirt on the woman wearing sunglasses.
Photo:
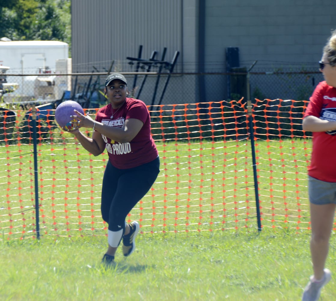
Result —
[[[307, 115], [336, 121], [336, 88], [321, 81], [315, 88], [303, 118]], [[313, 132], [308, 175], [326, 182], [336, 182], [336, 131]]]

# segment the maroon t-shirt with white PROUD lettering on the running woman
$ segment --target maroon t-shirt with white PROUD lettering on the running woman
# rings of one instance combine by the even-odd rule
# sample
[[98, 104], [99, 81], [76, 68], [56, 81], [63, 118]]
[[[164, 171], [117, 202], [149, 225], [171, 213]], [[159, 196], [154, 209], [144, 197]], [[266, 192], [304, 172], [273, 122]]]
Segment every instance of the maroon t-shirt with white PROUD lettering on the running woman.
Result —
[[106, 142], [105, 148], [112, 165], [119, 169], [128, 169], [156, 159], [158, 150], [151, 135], [151, 118], [145, 103], [138, 99], [126, 98], [126, 102], [114, 111], [112, 114], [111, 104], [100, 108], [96, 121], [121, 128], [126, 119], [132, 118], [141, 120], [143, 126], [134, 139], [126, 143], [119, 143], [101, 135]]

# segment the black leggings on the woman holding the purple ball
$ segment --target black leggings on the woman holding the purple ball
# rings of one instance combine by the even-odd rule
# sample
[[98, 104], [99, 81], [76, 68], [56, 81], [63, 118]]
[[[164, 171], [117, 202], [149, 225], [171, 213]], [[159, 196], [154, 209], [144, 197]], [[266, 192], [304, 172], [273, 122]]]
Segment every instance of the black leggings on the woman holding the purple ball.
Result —
[[100, 209], [110, 231], [125, 230], [127, 214], [151, 189], [159, 168], [159, 157], [130, 169], [118, 169], [108, 161], [103, 176]]

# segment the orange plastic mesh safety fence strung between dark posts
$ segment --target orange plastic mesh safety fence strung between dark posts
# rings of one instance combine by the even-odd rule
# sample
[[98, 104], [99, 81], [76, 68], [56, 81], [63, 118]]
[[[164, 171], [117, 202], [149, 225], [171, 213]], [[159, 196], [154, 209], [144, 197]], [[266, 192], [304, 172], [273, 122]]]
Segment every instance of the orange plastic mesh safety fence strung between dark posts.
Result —
[[[310, 230], [305, 101], [255, 100], [253, 131], [262, 227]], [[41, 109], [41, 108], [40, 108]], [[97, 109], [86, 111], [94, 116]], [[42, 112], [42, 110], [41, 110]], [[0, 116], [0, 239], [36, 237], [30, 111]], [[243, 100], [152, 106], [161, 172], [128, 214], [141, 232], [257, 229], [250, 129]], [[91, 135], [90, 131], [86, 131]], [[108, 155], [86, 152], [45, 109], [37, 121], [40, 235], [107, 235], [100, 190]]]

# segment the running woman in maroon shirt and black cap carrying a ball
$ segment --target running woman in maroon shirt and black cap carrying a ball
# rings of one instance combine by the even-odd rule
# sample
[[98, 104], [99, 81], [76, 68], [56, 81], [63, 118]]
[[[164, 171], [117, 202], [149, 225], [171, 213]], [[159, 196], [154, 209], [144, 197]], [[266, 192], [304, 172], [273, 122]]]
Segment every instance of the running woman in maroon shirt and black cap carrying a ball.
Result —
[[[109, 225], [108, 250], [102, 262], [111, 264], [121, 240], [124, 256], [135, 249], [139, 224], [127, 224], [125, 219], [151, 189], [159, 174], [160, 160], [144, 102], [127, 97], [127, 81], [120, 73], [108, 75], [105, 86], [110, 103], [98, 110], [95, 120], [75, 110], [78, 127], [71, 133], [94, 156], [105, 149], [109, 155], [102, 180], [101, 214]], [[92, 128], [92, 138], [79, 131], [81, 127]]]

